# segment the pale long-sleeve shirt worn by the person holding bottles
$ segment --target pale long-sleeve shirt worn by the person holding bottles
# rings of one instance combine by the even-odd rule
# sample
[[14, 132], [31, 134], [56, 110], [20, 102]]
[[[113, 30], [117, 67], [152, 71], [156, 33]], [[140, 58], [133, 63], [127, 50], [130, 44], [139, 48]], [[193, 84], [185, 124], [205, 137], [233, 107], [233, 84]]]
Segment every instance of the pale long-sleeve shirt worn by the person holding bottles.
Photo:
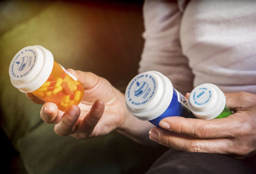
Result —
[[214, 83], [256, 93], [256, 1], [148, 0], [139, 72], [156, 70], [180, 92]]

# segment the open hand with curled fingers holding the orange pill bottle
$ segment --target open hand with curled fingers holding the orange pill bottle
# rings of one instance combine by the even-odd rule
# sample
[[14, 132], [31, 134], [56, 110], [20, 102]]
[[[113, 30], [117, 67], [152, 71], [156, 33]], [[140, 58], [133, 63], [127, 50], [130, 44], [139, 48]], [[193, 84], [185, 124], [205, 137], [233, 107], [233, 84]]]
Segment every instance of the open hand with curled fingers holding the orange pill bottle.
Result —
[[29, 99], [44, 104], [40, 115], [47, 123], [56, 123], [54, 131], [60, 136], [68, 134], [79, 138], [90, 138], [108, 134], [125, 121], [124, 94], [115, 89], [108, 80], [93, 73], [74, 71], [70, 73], [84, 85], [84, 96], [81, 103], [72, 106], [67, 112], [58, 110], [54, 103], [44, 103], [33, 94]]

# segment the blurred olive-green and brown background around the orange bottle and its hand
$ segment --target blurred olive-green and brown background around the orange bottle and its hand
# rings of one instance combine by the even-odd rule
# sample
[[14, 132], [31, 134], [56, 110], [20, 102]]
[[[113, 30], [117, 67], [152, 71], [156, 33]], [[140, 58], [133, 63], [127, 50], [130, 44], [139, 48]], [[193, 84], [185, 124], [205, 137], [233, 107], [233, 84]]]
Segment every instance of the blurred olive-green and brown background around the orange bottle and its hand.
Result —
[[[3, 173], [143, 173], [161, 150], [118, 133], [76, 140], [54, 134], [40, 105], [10, 83], [23, 47], [42, 45], [65, 68], [92, 71], [124, 91], [143, 49], [143, 1], [1, 1], [0, 90]], [[2, 173], [2, 172], [1, 172]]]

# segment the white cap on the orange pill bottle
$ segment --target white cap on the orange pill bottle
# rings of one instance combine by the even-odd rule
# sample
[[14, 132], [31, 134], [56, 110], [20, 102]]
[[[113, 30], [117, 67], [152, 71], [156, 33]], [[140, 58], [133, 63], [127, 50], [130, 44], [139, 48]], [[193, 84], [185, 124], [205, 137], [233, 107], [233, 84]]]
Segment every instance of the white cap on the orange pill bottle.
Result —
[[9, 75], [21, 92], [33, 92], [51, 75], [54, 60], [49, 50], [41, 46], [22, 48], [12, 59]]

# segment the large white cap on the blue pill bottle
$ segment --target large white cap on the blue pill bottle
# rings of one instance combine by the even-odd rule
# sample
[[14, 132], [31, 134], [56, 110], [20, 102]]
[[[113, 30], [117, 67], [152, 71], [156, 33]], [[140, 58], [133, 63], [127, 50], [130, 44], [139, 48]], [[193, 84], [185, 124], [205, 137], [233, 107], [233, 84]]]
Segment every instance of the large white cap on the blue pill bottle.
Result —
[[157, 71], [136, 75], [125, 91], [127, 109], [140, 120], [159, 117], [170, 105], [172, 96], [172, 82]]

